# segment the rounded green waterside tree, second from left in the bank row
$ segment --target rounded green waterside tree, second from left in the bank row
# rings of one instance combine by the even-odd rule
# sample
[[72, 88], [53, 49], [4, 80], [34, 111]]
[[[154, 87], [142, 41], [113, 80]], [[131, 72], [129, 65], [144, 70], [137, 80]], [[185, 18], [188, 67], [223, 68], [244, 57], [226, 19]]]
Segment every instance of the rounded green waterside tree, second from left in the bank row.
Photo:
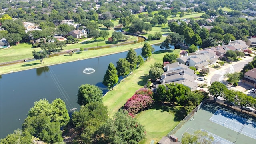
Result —
[[130, 63], [126, 60], [126, 58], [119, 58], [116, 65], [118, 76], [125, 78], [130, 73]]

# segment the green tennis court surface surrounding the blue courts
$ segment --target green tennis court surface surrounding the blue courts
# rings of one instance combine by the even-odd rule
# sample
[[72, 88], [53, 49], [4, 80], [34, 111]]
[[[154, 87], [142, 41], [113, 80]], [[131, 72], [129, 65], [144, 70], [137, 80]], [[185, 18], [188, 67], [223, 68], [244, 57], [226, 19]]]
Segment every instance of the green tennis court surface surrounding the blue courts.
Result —
[[[254, 138], [246, 136], [242, 132], [241, 134], [238, 134], [238, 132], [235, 130], [232, 130], [230, 128], [217, 124], [216, 122], [210, 121], [210, 118], [212, 118], [212, 116], [216, 113], [217, 110], [228, 112], [234, 116], [239, 115], [239, 116], [236, 116], [236, 118], [239, 118], [239, 117], [243, 118], [242, 114], [226, 109], [225, 106], [219, 106], [217, 104], [207, 102], [206, 104], [204, 104], [204, 106], [202, 106], [202, 108], [200, 108], [196, 112], [196, 114], [194, 115], [194, 120], [193, 119], [188, 120], [174, 134], [174, 136], [178, 137], [178, 140], [181, 141], [182, 135], [184, 134], [184, 132], [189, 132], [193, 134], [195, 130], [204, 130], [204, 131], [207, 131], [209, 134], [212, 134], [214, 138], [220, 139], [220, 142], [216, 144], [256, 144], [256, 140]], [[226, 113], [223, 113], [223, 114], [226, 114]], [[217, 119], [218, 118], [214, 118], [214, 120], [217, 120]], [[245, 119], [248, 119], [248, 118], [245, 118]]]

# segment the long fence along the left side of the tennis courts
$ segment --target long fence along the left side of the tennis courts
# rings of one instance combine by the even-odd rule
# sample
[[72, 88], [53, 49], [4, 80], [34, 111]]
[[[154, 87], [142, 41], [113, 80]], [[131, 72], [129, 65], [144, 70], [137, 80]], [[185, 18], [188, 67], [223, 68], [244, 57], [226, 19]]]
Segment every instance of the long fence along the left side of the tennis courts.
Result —
[[194, 108], [194, 110], [192, 110], [192, 112], [190, 112], [185, 118], [183, 118], [183, 120], [181, 120], [180, 123], [167, 134], [167, 136], [175, 134], [183, 126], [183, 124], [185, 124], [185, 122], [187, 122], [188, 120], [192, 120], [194, 118], [195, 112], [197, 112], [197, 110], [200, 109], [207, 102], [207, 99], [208, 98], [202, 100], [202, 102], [198, 104], [198, 106], [196, 106], [196, 108]]

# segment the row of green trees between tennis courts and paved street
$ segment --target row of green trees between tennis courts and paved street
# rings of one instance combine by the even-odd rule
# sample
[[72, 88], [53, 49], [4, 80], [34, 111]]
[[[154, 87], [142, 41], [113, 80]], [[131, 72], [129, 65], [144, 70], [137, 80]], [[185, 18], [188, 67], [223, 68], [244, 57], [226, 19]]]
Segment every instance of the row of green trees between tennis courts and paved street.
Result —
[[[234, 103], [236, 106], [241, 106], [241, 108], [246, 108], [248, 106], [256, 108], [256, 98], [247, 96], [240, 91], [229, 90], [226, 85], [221, 82], [213, 82], [208, 88], [209, 93], [214, 97], [214, 101], [220, 96], [225, 99], [228, 105]], [[241, 109], [241, 112], [242, 110], [243, 109]]]

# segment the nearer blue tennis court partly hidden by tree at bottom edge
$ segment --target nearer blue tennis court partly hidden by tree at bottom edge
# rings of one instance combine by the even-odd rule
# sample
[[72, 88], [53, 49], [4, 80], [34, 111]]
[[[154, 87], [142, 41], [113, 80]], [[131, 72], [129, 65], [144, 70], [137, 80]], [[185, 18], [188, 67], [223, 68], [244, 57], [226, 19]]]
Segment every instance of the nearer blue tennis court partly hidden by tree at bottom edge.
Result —
[[[186, 130], [186, 132], [184, 132], [184, 133], [188, 133], [190, 135], [194, 135], [195, 131], [196, 130], [193, 129], [193, 128], [188, 128]], [[230, 142], [230, 141], [228, 141], [228, 140], [226, 140], [226, 139], [224, 139], [224, 138], [222, 138], [220, 136], [217, 136], [216, 134], [212, 134], [211, 132], [208, 132], [207, 130], [201, 129], [201, 131], [202, 132], [207, 132], [208, 135], [214, 137], [214, 141], [212, 142], [212, 144], [233, 144], [233, 142]], [[182, 136], [183, 136], [183, 134], [182, 134]]]

